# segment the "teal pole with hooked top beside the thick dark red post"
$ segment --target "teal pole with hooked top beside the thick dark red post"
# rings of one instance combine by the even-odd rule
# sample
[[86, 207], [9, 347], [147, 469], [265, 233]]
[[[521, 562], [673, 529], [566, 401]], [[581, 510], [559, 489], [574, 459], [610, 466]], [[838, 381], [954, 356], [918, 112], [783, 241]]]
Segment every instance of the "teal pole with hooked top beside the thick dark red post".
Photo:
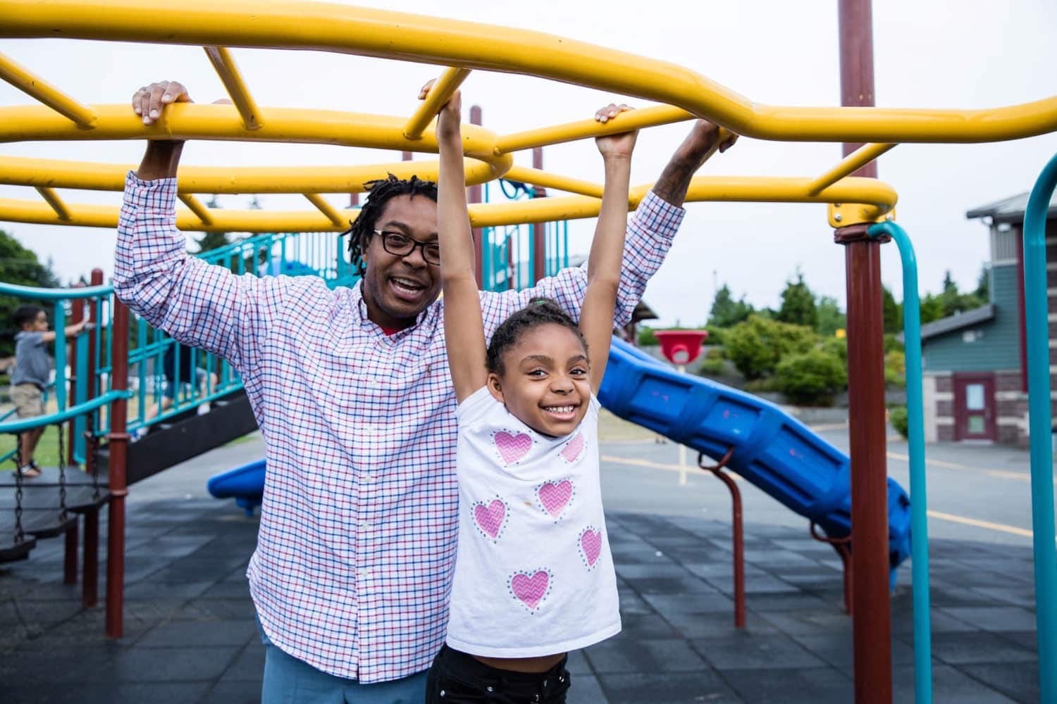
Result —
[[928, 500], [925, 478], [925, 399], [922, 391], [921, 302], [917, 259], [906, 230], [895, 223], [871, 225], [870, 236], [888, 235], [903, 260], [903, 335], [907, 376], [907, 440], [910, 455], [910, 569], [913, 579], [914, 701], [932, 702], [932, 624], [928, 578]]

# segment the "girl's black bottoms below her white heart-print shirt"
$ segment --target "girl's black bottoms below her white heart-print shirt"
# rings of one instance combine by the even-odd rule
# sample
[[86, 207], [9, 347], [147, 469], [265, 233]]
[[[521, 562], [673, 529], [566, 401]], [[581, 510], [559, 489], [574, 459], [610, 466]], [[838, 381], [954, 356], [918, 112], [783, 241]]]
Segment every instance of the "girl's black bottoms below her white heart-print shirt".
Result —
[[562, 659], [546, 672], [512, 672], [445, 645], [426, 676], [426, 704], [564, 704], [569, 691], [565, 662]]

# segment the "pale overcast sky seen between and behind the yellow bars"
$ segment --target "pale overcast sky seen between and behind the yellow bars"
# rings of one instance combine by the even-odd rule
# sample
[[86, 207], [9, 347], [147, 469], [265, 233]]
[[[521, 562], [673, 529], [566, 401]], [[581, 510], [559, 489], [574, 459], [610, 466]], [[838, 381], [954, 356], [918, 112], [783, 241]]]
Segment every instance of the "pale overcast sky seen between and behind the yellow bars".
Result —
[[[352, 3], [349, 3], [352, 4]], [[407, 0], [355, 4], [422, 12], [537, 30], [673, 61], [748, 98], [769, 104], [836, 106], [840, 101], [837, 13], [833, 0], [811, 2], [687, 2], [649, 0], [576, 3]], [[874, 2], [876, 102], [891, 108], [989, 108], [1057, 94], [1057, 3], [965, 0], [922, 3]], [[225, 97], [201, 47], [69, 40], [5, 40], [11, 56], [78, 100], [127, 102], [140, 85], [160, 79], [185, 82], [197, 101]], [[430, 65], [355, 56], [235, 50], [236, 60], [262, 111], [268, 106], [326, 108], [409, 115], [419, 87], [438, 74]], [[589, 117], [620, 98], [535, 78], [474, 73], [463, 85], [464, 107], [478, 103], [485, 126], [520, 131]], [[636, 106], [648, 104], [629, 99]], [[0, 106], [30, 98], [0, 83]], [[644, 132], [635, 150], [632, 183], [652, 180], [679, 144], [687, 123]], [[34, 142], [0, 146], [0, 155], [73, 158], [132, 165], [138, 141]], [[986, 261], [986, 228], [965, 211], [1031, 189], [1057, 134], [995, 145], [905, 145], [882, 157], [880, 177], [900, 194], [898, 222], [917, 250], [921, 287], [937, 291], [945, 269], [963, 288], [976, 286]], [[303, 145], [191, 144], [191, 165], [321, 165], [385, 163], [392, 152]], [[427, 158], [422, 156], [421, 158]], [[601, 179], [601, 163], [589, 141], [546, 149], [545, 167], [556, 173]], [[717, 155], [701, 173], [815, 175], [840, 158], [834, 144], [781, 144], [742, 139]], [[519, 154], [530, 165], [528, 154]], [[117, 205], [118, 193], [62, 192], [70, 203]], [[0, 197], [37, 197], [32, 189], [0, 186]], [[244, 207], [248, 196], [220, 198]], [[264, 208], [302, 208], [299, 196], [267, 195]], [[346, 205], [347, 196], [331, 196]], [[112, 269], [114, 234], [94, 228], [4, 223], [42, 258], [54, 259], [63, 280], [92, 266]], [[593, 222], [574, 225], [572, 250], [587, 252]], [[646, 300], [662, 322], [699, 324], [713, 293], [713, 272], [736, 296], [758, 306], [777, 306], [785, 281], [799, 267], [812, 289], [843, 305], [843, 250], [832, 242], [821, 205], [691, 204], [666, 264]], [[884, 280], [902, 298], [898, 255], [885, 248]]]

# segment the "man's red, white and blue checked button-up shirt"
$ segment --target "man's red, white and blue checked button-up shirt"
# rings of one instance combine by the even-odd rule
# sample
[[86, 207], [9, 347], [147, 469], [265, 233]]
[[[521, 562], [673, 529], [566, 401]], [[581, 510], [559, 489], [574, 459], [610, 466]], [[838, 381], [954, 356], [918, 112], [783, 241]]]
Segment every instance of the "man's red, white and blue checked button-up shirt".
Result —
[[[180, 342], [242, 376], [267, 448], [248, 577], [272, 642], [364, 683], [426, 669], [444, 642], [456, 556], [456, 398], [443, 299], [392, 336], [360, 287], [236, 275], [186, 253], [177, 180], [130, 173], [114, 290]], [[627, 322], [684, 211], [649, 193], [629, 220], [616, 316]], [[574, 318], [586, 267], [532, 289], [481, 293], [485, 332], [531, 298]]]

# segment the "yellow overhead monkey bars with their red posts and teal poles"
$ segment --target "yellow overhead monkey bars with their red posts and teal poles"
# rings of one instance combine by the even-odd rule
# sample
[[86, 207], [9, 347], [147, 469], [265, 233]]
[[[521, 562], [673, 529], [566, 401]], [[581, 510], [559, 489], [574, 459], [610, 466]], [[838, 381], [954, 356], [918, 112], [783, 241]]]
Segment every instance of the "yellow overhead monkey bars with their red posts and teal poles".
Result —
[[[894, 237], [904, 258], [905, 278], [916, 281], [912, 249], [902, 228], [890, 222], [896, 201], [892, 188], [875, 179], [851, 176], [898, 142], [983, 142], [1015, 139], [1057, 131], [1057, 97], [990, 110], [914, 110], [876, 108], [787, 108], [753, 103], [707, 78], [676, 65], [592, 46], [539, 33], [489, 27], [398, 13], [324, 4], [265, 4], [241, 1], [155, 3], [131, 0], [84, 3], [70, 1], [0, 2], [5, 21], [0, 36], [64, 37], [197, 44], [206, 54], [234, 102], [231, 106], [175, 104], [152, 127], [144, 128], [127, 106], [84, 106], [27, 70], [0, 58], [0, 76], [43, 106], [0, 109], [0, 139], [236, 139], [326, 142], [402, 151], [435, 152], [429, 130], [432, 115], [472, 70], [503, 71], [572, 82], [666, 104], [637, 110], [608, 125], [580, 120], [518, 134], [497, 135], [481, 127], [464, 127], [467, 183], [498, 176], [573, 193], [506, 204], [470, 207], [474, 227], [543, 223], [597, 214], [600, 187], [513, 165], [512, 153], [585, 138], [670, 123], [702, 116], [747, 137], [789, 141], [867, 142], [818, 176], [696, 177], [688, 201], [800, 202], [829, 206], [829, 224], [846, 246], [848, 262], [849, 365], [854, 379], [852, 404], [852, 558], [855, 564], [856, 698], [890, 701], [891, 655], [888, 644], [889, 547], [884, 462], [884, 401], [880, 359], [879, 245]], [[164, 26], [151, 20], [165, 13]], [[252, 23], [240, 22], [253, 15]], [[238, 31], [230, 27], [238, 27]], [[296, 32], [292, 27], [297, 27]], [[479, 41], [487, 36], [484, 51]], [[229, 45], [311, 49], [400, 58], [448, 65], [429, 99], [410, 118], [352, 113], [259, 108], [242, 81]], [[590, 57], [590, 60], [588, 60]], [[629, 71], [634, 66], [634, 71]], [[337, 232], [355, 210], [339, 210], [321, 193], [363, 190], [363, 182], [390, 171], [410, 175], [406, 164], [356, 168], [206, 169], [183, 167], [180, 197], [186, 209], [177, 224], [187, 230], [246, 232]], [[415, 161], [413, 171], [435, 177], [435, 161]], [[117, 209], [68, 204], [55, 188], [120, 190], [125, 168], [31, 158], [0, 159], [0, 183], [37, 189], [42, 201], [0, 199], [0, 220], [52, 225], [112, 228]], [[1032, 494], [1035, 540], [1036, 604], [1042, 701], [1057, 698], [1057, 555], [1054, 545], [1052, 448], [1050, 444], [1050, 368], [1043, 224], [1050, 193], [1057, 184], [1052, 161], [1033, 192], [1025, 216], [1025, 297], [1027, 303], [1028, 386], [1032, 425]], [[634, 206], [649, 185], [632, 190]], [[301, 193], [313, 210], [210, 211], [197, 194], [268, 192]], [[481, 268], [479, 267], [479, 270]], [[910, 286], [905, 288], [910, 301]], [[34, 291], [24, 291], [30, 294]], [[87, 288], [56, 300], [107, 296], [106, 287]], [[916, 301], [916, 298], [913, 299]], [[60, 312], [56, 306], [56, 327]], [[914, 307], [905, 310], [908, 397], [911, 407], [911, 497], [913, 499], [913, 570], [915, 612], [915, 677], [919, 701], [929, 701], [927, 531], [925, 524], [924, 445], [920, 395], [921, 365], [914, 357], [919, 321]], [[127, 311], [113, 305], [110, 365], [97, 367], [109, 387], [81, 403], [59, 404], [57, 415], [39, 421], [4, 423], [0, 432], [18, 432], [43, 422], [87, 416], [110, 405], [108, 486], [110, 491], [109, 581], [118, 594], [108, 630], [120, 632], [120, 527], [125, 486], [125, 367], [128, 337], [122, 335]], [[94, 344], [94, 343], [90, 343]], [[916, 362], [914, 361], [916, 359]], [[59, 396], [58, 386], [56, 388]], [[223, 400], [221, 389], [215, 400]], [[74, 398], [77, 398], [76, 395]], [[207, 397], [208, 398], [208, 395]], [[717, 451], [718, 452], [718, 451]], [[722, 456], [721, 456], [722, 457]], [[721, 457], [713, 457], [720, 459]], [[87, 531], [88, 529], [86, 529]], [[86, 536], [87, 537], [87, 536]], [[87, 552], [87, 551], [86, 551]], [[108, 588], [108, 595], [109, 595]]]

